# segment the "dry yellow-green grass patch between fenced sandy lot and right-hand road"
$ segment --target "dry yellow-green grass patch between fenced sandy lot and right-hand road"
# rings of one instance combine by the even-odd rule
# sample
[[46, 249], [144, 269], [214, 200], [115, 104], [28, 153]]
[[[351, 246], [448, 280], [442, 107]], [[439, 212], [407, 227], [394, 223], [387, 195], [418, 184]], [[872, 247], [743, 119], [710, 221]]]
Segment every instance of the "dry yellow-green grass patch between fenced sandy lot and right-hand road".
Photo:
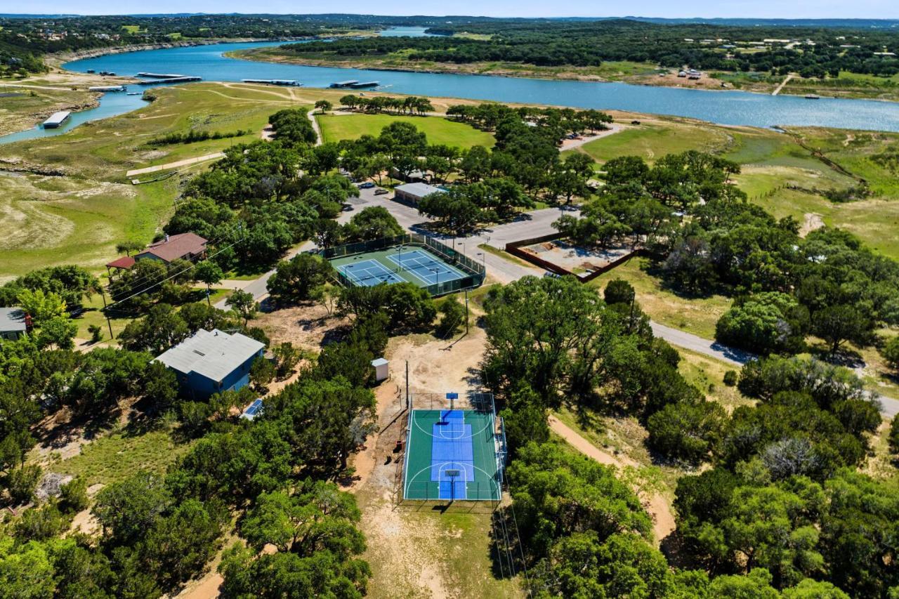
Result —
[[715, 323], [730, 306], [730, 299], [721, 295], [708, 298], [689, 298], [665, 289], [658, 277], [649, 273], [647, 258], [632, 258], [625, 264], [593, 279], [591, 285], [605, 289], [613, 279], [624, 279], [634, 286], [636, 300], [645, 313], [663, 325], [680, 328], [706, 339], [715, 338]]

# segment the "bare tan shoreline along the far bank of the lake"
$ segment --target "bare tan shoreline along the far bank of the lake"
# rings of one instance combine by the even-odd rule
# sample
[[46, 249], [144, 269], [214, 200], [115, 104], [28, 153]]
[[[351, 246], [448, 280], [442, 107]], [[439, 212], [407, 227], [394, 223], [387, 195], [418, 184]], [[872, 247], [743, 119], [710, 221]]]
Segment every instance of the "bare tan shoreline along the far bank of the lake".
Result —
[[[261, 52], [258, 52], [258, 49], [241, 49], [241, 50], [232, 50], [230, 52], [225, 52], [223, 54], [225, 58], [234, 58], [238, 60], [247, 60], [251, 62], [264, 62], [269, 64], [282, 64], [282, 65], [295, 65], [298, 67], [328, 67], [328, 68], [344, 68], [344, 69], [360, 69], [360, 70], [369, 70], [369, 71], [385, 71], [385, 72], [396, 72], [396, 73], [427, 73], [432, 75], [469, 75], [469, 76], [490, 76], [490, 77], [507, 77], [512, 79], [539, 79], [543, 81], [579, 81], [583, 83], [619, 83], [625, 85], [634, 85], [634, 86], [643, 86], [643, 87], [663, 87], [670, 89], [686, 89], [686, 90], [696, 90], [701, 92], [743, 92], [745, 94], [760, 94], [760, 95], [775, 95], [771, 94], [768, 90], [760, 90], [760, 89], [752, 89], [751, 87], [735, 87], [733, 84], [729, 84], [727, 87], [720, 86], [721, 83], [727, 83], [724, 80], [719, 80], [716, 78], [712, 78], [710, 76], [706, 76], [704, 81], [714, 81], [719, 85], [659, 85], [657, 78], [649, 77], [647, 80], [628, 80], [627, 77], [623, 77], [620, 79], [610, 79], [608, 77], [598, 76], [598, 75], [577, 75], [573, 73], [571, 75], [565, 74], [539, 74], [539, 73], [531, 73], [531, 74], [518, 74], [512, 71], [503, 71], [499, 70], [497, 72], [490, 73], [482, 73], [476, 72], [472, 70], [456, 69], [451, 67], [446, 68], [435, 68], [435, 67], [423, 67], [423, 68], [413, 68], [413, 67], [398, 67], [398, 66], [389, 66], [389, 65], [367, 65], [365, 63], [353, 63], [348, 64], [345, 62], [333, 62], [328, 60], [303, 60], [301, 58], [291, 58], [289, 56], [271, 56], [271, 55], [263, 55]], [[449, 63], [447, 63], [449, 65]], [[576, 68], [576, 67], [574, 67]], [[654, 83], [655, 81], [655, 83]], [[772, 85], [771, 88], [774, 89], [777, 85]], [[812, 88], [814, 90], [814, 88]], [[899, 96], [895, 99], [876, 97], [873, 95], [841, 95], [841, 94], [833, 94], [833, 88], [825, 87], [823, 89], [817, 89], [812, 92], [809, 91], [801, 91], [797, 93], [790, 93], [786, 88], [781, 90], [779, 94], [776, 95], [785, 95], [790, 97], [804, 97], [806, 94], [814, 93], [821, 98], [825, 99], [833, 99], [833, 100], [869, 100], [873, 102], [886, 102], [886, 103], [899, 103]]]

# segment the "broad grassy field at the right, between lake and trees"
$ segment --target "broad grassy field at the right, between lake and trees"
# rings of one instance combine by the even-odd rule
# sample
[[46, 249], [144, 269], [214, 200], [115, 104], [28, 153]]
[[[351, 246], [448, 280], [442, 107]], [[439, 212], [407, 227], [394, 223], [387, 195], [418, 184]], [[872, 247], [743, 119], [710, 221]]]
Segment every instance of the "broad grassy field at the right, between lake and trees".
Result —
[[[899, 172], [888, 162], [883, 165], [875, 160], [899, 150], [899, 134], [820, 128], [797, 128], [789, 133], [649, 117], [638, 127], [573, 151], [586, 152], [599, 163], [617, 156], [643, 156], [652, 162], [687, 149], [710, 151], [742, 166], [735, 182], [750, 201], [775, 217], [792, 216], [800, 225], [820, 219], [824, 225], [845, 228], [877, 251], [899, 259]], [[850, 174], [825, 164], [813, 150]], [[868, 182], [871, 191], [864, 200], [840, 203], [823, 195], [827, 190], [855, 187], [859, 178]]]

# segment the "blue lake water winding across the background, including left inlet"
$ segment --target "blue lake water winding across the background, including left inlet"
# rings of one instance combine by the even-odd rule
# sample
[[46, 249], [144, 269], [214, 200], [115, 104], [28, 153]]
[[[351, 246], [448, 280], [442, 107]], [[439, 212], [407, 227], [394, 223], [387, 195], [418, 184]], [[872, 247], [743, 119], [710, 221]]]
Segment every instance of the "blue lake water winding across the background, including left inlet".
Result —
[[[383, 34], [423, 35], [421, 28], [396, 28]], [[556, 104], [575, 108], [617, 109], [632, 112], [671, 114], [725, 125], [772, 127], [776, 125], [820, 126], [860, 130], [899, 131], [899, 103], [873, 100], [750, 94], [737, 91], [708, 92], [672, 87], [620, 83], [554, 81], [513, 77], [410, 73], [332, 67], [299, 67], [225, 58], [235, 49], [276, 46], [281, 42], [246, 42], [142, 50], [85, 58], [67, 63], [70, 70], [108, 70], [119, 75], [138, 71], [201, 76], [206, 81], [241, 79], [296, 79], [306, 87], [327, 87], [334, 81], [360, 79], [380, 81], [390, 92], [428, 96], [451, 96], [496, 102]], [[133, 89], [146, 89], [135, 87]], [[58, 130], [28, 130], [0, 138], [0, 143], [58, 133], [81, 122], [129, 112], [142, 105], [140, 96], [105, 94], [99, 108], [73, 114]]]

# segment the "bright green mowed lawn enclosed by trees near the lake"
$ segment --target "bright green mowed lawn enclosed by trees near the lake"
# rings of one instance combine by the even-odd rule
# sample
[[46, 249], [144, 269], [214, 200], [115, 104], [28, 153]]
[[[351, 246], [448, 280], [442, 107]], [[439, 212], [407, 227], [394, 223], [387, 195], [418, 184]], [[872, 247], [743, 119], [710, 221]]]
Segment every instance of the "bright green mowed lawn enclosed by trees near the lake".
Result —
[[428, 143], [443, 144], [455, 148], [494, 145], [494, 136], [461, 122], [440, 117], [393, 116], [389, 114], [325, 114], [317, 116], [325, 141], [359, 139], [363, 135], [377, 136], [392, 122], [412, 123], [428, 136]]

